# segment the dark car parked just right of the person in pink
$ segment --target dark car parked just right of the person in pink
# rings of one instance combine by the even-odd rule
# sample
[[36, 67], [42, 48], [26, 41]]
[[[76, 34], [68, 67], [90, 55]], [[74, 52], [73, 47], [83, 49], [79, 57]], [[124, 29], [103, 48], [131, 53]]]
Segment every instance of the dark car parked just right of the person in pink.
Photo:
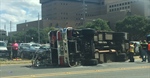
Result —
[[31, 59], [36, 50], [37, 49], [29, 43], [24, 43], [19, 47], [18, 54], [22, 59]]

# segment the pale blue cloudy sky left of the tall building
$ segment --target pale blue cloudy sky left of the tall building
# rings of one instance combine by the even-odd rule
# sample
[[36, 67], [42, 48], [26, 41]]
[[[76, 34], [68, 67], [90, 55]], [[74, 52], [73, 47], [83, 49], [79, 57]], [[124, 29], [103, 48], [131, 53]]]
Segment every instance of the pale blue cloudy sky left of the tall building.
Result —
[[0, 29], [16, 31], [16, 25], [27, 21], [38, 20], [41, 15], [39, 0], [0, 0]]

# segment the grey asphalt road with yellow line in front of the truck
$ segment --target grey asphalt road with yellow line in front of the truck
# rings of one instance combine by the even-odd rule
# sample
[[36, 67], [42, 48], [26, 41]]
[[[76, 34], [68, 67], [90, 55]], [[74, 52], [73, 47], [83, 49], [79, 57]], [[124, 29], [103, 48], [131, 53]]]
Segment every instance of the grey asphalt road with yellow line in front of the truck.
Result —
[[150, 78], [150, 63], [113, 62], [63, 68], [6, 65], [0, 66], [0, 78]]

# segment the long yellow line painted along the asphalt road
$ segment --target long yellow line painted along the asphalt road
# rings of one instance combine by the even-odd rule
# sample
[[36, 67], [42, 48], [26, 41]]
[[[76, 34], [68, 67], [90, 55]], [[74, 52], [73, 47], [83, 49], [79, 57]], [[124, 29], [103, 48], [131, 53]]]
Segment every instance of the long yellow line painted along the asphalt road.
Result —
[[38, 77], [52, 77], [52, 76], [62, 76], [62, 75], [88, 74], [88, 73], [98, 73], [98, 72], [136, 70], [136, 69], [146, 69], [146, 68], [150, 68], [150, 66], [110, 68], [110, 69], [101, 69], [101, 70], [82, 70], [82, 71], [71, 71], [71, 72], [56, 72], [56, 73], [34, 74], [34, 75], [8, 76], [8, 77], [1, 77], [1, 78], [38, 78]]

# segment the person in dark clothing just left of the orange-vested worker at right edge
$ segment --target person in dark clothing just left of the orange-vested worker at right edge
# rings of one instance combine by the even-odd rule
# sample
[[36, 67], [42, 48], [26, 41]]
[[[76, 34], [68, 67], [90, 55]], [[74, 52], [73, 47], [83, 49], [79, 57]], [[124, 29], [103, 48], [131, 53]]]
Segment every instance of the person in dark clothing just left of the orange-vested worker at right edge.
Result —
[[142, 47], [142, 51], [141, 51], [141, 55], [142, 55], [142, 62], [146, 62], [146, 56], [147, 56], [147, 41], [144, 40], [141, 44]]

